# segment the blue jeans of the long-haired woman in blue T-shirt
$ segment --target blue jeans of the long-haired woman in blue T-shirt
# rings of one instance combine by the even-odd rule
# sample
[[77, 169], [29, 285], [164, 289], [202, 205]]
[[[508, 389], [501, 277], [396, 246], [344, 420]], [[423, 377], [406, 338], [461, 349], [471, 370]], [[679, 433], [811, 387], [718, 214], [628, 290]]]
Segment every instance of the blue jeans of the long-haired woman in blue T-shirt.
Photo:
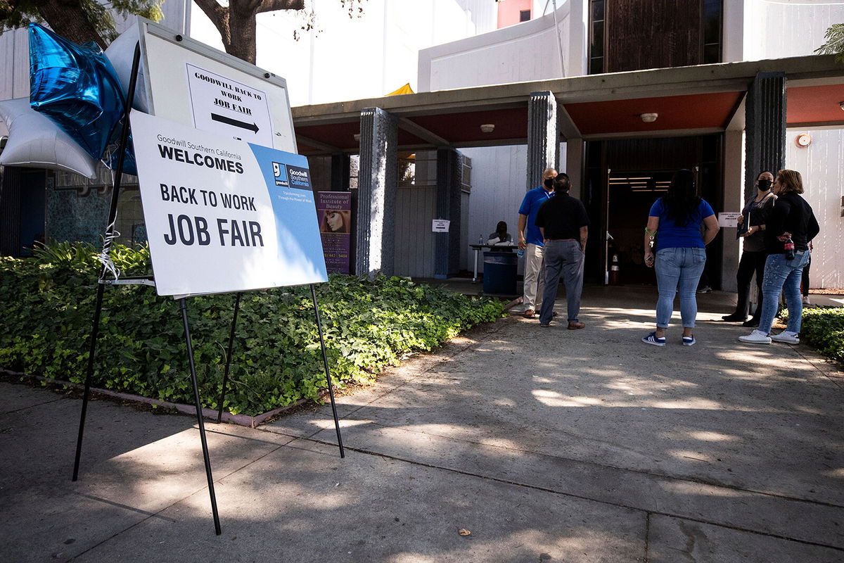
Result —
[[703, 248], [663, 248], [657, 251], [657, 327], [668, 328], [674, 314], [674, 295], [680, 294], [680, 317], [684, 328], [695, 328], [695, 290], [706, 265]]

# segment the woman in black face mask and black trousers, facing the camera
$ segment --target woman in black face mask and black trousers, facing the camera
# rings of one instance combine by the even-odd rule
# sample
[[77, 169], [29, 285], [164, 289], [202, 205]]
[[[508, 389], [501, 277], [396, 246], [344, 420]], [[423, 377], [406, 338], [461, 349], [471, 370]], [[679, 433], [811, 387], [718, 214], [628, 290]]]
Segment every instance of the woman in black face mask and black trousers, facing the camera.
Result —
[[[765, 275], [765, 260], [768, 257], [768, 253], [765, 252], [765, 229], [776, 199], [771, 190], [773, 183], [774, 175], [771, 172], [762, 172], [756, 178], [754, 197], [748, 200], [741, 212], [741, 217], [738, 218], [738, 233], [739, 236], [744, 237], [744, 249], [741, 260], [738, 262], [738, 273], [736, 273], [738, 302], [736, 310], [722, 318], [728, 322], [742, 322], [744, 327], [758, 327], [759, 317], [762, 314], [762, 279]], [[750, 279], [753, 278], [754, 273], [759, 302], [753, 318], [747, 321]]]

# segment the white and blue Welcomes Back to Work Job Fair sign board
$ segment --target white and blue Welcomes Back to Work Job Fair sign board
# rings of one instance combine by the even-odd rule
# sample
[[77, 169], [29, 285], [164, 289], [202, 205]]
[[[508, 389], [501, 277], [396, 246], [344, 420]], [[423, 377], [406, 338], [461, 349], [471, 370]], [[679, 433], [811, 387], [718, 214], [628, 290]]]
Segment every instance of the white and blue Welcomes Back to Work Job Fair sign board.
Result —
[[159, 295], [327, 281], [307, 159], [131, 115]]

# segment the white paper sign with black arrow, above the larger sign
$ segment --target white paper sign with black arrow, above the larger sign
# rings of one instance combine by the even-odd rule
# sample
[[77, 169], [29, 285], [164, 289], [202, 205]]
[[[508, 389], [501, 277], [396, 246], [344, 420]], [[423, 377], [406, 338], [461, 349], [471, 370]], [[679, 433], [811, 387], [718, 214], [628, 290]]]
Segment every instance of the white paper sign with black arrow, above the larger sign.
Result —
[[273, 146], [267, 93], [186, 62], [193, 127]]

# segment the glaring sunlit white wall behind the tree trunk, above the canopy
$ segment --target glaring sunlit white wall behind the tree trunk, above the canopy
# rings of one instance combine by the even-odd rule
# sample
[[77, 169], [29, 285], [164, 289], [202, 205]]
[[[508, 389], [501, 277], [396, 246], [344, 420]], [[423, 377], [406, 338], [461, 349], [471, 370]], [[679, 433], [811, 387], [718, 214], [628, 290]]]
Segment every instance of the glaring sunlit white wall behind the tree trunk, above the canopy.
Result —
[[[479, 0], [370, 0], [362, 16], [351, 19], [336, 0], [310, 0], [310, 5], [317, 18], [310, 31], [300, 29], [306, 21], [300, 12], [257, 17], [257, 66], [287, 80], [293, 106], [377, 97], [407, 83], [416, 90], [420, 49], [495, 25], [494, 3]], [[196, 5], [191, 36], [223, 49], [214, 25]]]

